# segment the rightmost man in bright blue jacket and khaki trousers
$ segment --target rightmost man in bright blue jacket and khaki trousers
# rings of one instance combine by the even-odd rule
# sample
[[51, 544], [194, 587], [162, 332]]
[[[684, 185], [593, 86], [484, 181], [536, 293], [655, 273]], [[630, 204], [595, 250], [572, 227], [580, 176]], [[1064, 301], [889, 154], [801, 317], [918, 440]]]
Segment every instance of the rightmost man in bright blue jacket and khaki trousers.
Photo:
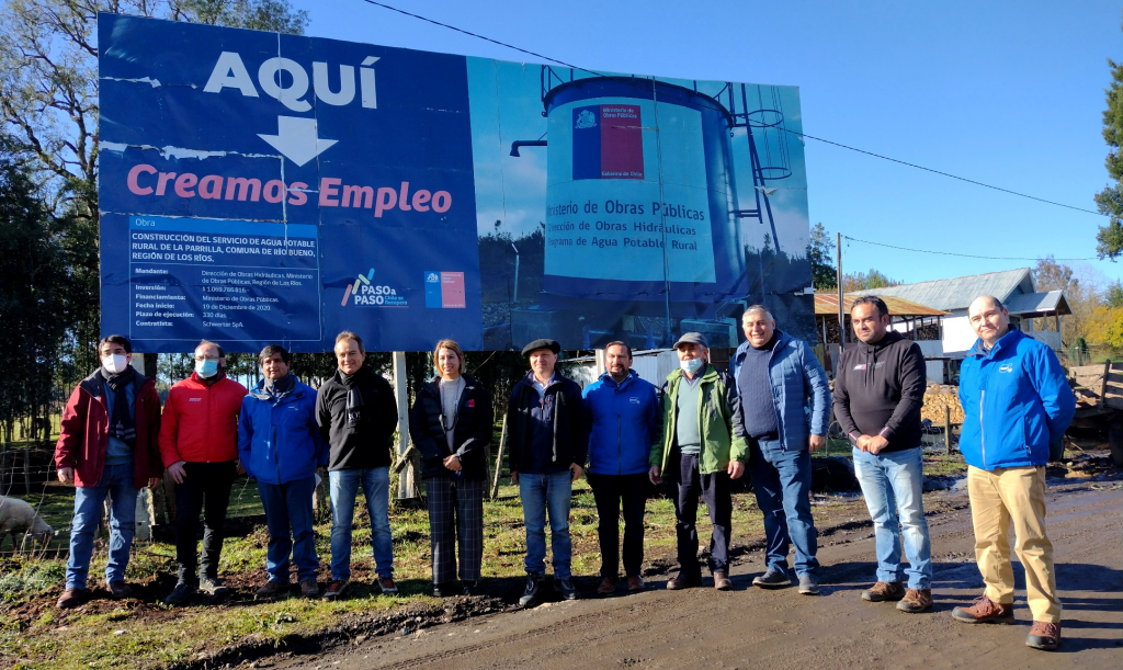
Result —
[[1014, 569], [1007, 533], [1025, 568], [1025, 599], [1033, 627], [1025, 644], [1060, 643], [1060, 600], [1052, 543], [1046, 534], [1046, 462], [1063, 453], [1076, 398], [1049, 347], [1011, 328], [998, 299], [984, 295], [967, 309], [979, 339], [959, 371], [967, 461], [967, 493], [975, 525], [975, 559], [986, 590], [952, 616], [965, 623], [1014, 623]]

